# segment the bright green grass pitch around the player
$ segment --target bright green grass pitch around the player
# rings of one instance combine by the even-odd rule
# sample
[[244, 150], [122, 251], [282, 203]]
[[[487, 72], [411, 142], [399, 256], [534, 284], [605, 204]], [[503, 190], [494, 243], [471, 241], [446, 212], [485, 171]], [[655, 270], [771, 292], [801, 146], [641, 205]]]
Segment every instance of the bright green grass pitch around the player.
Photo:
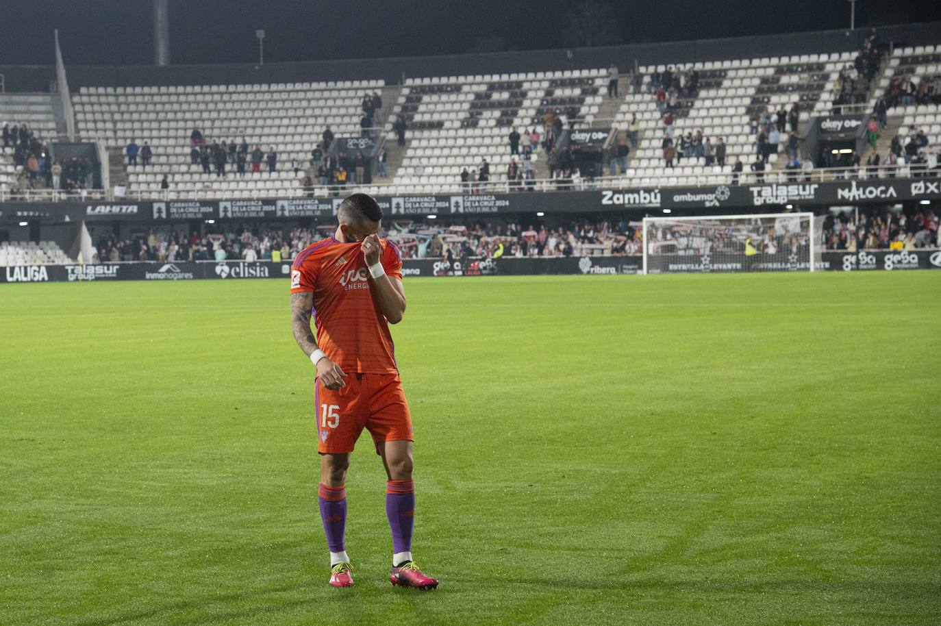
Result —
[[407, 280], [327, 586], [286, 281], [0, 287], [0, 623], [936, 624], [941, 271]]

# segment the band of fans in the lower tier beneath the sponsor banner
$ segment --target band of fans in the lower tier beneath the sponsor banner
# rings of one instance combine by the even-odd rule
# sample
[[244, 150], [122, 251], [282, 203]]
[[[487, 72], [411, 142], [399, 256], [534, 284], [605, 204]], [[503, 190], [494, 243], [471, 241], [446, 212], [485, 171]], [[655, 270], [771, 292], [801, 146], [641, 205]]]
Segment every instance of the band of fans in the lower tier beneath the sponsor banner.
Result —
[[[858, 216], [858, 217], [857, 217]], [[822, 226], [823, 248], [857, 249], [941, 248], [938, 216], [931, 208], [905, 213], [888, 209], [858, 214], [828, 215]], [[807, 246], [805, 222], [755, 220], [735, 229], [697, 231], [688, 222], [665, 223], [651, 231], [652, 243], [669, 243], [671, 253], [715, 251], [752, 254], [794, 252]], [[97, 239], [101, 262], [152, 261], [290, 261], [312, 243], [334, 233], [335, 226], [295, 227], [231, 224], [215, 233], [186, 233], [170, 227], [141, 229], [120, 239], [113, 233]], [[514, 220], [392, 220], [379, 233], [398, 246], [403, 258], [564, 257], [634, 255], [643, 252], [640, 222], [624, 218], [576, 219], [561, 224]]]

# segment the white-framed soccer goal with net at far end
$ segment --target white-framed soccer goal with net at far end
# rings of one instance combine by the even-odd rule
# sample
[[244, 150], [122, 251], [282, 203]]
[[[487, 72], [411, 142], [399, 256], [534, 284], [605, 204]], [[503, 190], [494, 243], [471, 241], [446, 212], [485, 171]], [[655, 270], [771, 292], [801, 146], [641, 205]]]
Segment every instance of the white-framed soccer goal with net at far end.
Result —
[[645, 217], [644, 273], [812, 272], [821, 226], [812, 213]]

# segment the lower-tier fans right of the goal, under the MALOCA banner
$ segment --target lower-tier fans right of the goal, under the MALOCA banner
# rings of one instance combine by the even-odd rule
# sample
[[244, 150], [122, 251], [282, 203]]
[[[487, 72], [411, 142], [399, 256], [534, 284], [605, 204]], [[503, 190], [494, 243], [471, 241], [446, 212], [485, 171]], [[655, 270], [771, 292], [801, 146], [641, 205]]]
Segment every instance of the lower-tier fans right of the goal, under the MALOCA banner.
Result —
[[911, 250], [941, 248], [938, 217], [926, 208], [911, 214], [889, 209], [860, 209], [858, 214], [827, 216], [823, 222], [825, 249]]

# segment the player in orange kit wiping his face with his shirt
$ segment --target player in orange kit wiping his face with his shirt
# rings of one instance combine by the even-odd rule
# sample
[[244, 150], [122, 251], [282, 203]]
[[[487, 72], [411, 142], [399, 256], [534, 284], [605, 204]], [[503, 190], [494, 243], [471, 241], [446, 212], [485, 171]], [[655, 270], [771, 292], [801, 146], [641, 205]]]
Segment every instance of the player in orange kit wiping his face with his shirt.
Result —
[[[337, 210], [336, 233], [301, 251], [291, 269], [291, 327], [317, 371], [314, 420], [320, 460], [320, 517], [330, 551], [330, 585], [352, 586], [346, 554], [346, 469], [365, 427], [382, 457], [392, 533], [392, 585], [433, 589], [412, 561], [415, 487], [411, 415], [395, 364], [389, 322], [402, 321], [402, 258], [379, 239], [382, 209], [353, 194]], [[311, 313], [316, 338], [311, 333]]]

